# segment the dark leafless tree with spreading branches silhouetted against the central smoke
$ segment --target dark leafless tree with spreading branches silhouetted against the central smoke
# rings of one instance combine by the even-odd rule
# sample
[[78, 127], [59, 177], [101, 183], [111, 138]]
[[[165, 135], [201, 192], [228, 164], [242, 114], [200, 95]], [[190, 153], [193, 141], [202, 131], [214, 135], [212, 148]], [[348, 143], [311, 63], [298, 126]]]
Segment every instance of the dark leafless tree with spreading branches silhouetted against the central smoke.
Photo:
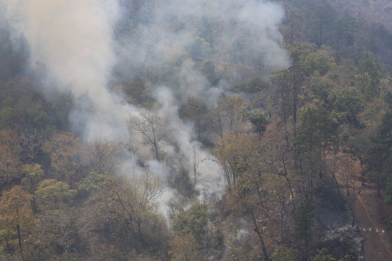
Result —
[[159, 149], [163, 147], [160, 142], [161, 118], [156, 113], [145, 113], [142, 116], [130, 116], [128, 126], [134, 132], [143, 137], [145, 145], [151, 143], [155, 150], [156, 160], [159, 161]]

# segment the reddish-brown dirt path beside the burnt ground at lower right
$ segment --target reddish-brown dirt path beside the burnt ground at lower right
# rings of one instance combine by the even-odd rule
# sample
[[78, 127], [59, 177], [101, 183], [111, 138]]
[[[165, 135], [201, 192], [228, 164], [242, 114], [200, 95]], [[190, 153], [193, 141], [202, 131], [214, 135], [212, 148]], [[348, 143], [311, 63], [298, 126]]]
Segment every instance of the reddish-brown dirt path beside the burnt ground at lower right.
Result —
[[[391, 261], [392, 260], [392, 237], [385, 225], [382, 225], [378, 216], [378, 199], [376, 189], [370, 186], [360, 187], [355, 192], [355, 217], [359, 223], [362, 236], [365, 237], [365, 260], [366, 261]], [[345, 193], [346, 190], [341, 190]], [[370, 196], [371, 195], [371, 196]], [[352, 199], [352, 188], [350, 189]]]

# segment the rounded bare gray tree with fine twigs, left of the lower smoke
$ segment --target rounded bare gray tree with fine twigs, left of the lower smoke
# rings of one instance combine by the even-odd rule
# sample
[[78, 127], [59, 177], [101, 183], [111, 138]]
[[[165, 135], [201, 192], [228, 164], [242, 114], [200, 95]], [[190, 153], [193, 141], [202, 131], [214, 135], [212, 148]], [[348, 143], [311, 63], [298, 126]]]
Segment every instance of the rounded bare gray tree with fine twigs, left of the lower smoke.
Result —
[[113, 172], [120, 164], [120, 143], [118, 141], [107, 138], [86, 141], [85, 151], [91, 167], [99, 173]]

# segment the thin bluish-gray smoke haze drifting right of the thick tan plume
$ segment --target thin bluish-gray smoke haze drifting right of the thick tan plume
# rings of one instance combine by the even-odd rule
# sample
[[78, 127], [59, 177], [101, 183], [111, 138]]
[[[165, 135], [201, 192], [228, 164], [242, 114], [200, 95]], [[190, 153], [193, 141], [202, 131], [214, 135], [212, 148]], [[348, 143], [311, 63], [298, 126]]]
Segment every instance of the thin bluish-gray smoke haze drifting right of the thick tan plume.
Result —
[[[216, 100], [232, 94], [233, 83], [221, 79], [212, 85], [198, 70], [202, 60], [211, 60], [216, 73], [224, 74], [226, 78], [238, 78], [239, 70], [251, 70], [239, 68], [236, 63], [240, 60], [259, 62], [265, 69], [261, 76], [266, 80], [270, 71], [289, 66], [289, 58], [279, 46], [278, 25], [284, 18], [284, 11], [276, 3], [171, 0], [161, 3], [157, 12], [155, 18], [145, 13], [130, 37], [122, 33], [122, 28], [130, 25], [123, 21], [118, 26], [118, 73], [124, 78], [158, 78], [158, 82], [183, 99], [199, 96]], [[206, 39], [200, 37], [200, 32]], [[176, 71], [165, 71], [173, 63], [178, 63]]]

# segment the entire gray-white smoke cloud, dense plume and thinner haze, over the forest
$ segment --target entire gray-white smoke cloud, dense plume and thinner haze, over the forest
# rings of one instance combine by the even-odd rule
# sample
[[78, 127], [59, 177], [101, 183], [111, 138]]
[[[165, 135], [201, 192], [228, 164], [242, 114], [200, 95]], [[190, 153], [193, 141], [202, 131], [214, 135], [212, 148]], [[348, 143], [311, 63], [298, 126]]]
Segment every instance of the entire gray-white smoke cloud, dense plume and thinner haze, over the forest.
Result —
[[[258, 64], [259, 74], [266, 79], [271, 70], [289, 65], [279, 46], [278, 25], [284, 11], [272, 2], [160, 1], [154, 15], [141, 9], [136, 25], [127, 20], [127, 12], [116, 0], [3, 0], [3, 4], [15, 37], [23, 34], [27, 39], [31, 67], [36, 68], [38, 61], [45, 65], [44, 91], [67, 85], [79, 97], [70, 120], [82, 140], [116, 139], [130, 115], [149, 112], [127, 103], [122, 92], [111, 91], [109, 85], [121, 87], [124, 79], [142, 78], [153, 86], [158, 104], [154, 113], [165, 119], [161, 150], [167, 160], [156, 161], [151, 147], [144, 146], [139, 137], [136, 159], [131, 163], [125, 157], [119, 174], [130, 174], [132, 167], [140, 170], [140, 166], [131, 167], [136, 161], [149, 166], [166, 183], [173, 171], [190, 170], [192, 146], [201, 159], [211, 153], [197, 141], [192, 123], [180, 118], [178, 98], [199, 96], [209, 102], [232, 94], [232, 79], [254, 70], [241, 67], [239, 61]], [[198, 30], [207, 30], [205, 24], [214, 24], [211, 32], [204, 32], [209, 41]], [[131, 25], [132, 30], [124, 30]], [[129, 31], [130, 35], [125, 33]], [[238, 53], [236, 60], [230, 58], [233, 52]], [[215, 74], [225, 77], [212, 83], [200, 72], [204, 60], [211, 60]], [[198, 170], [196, 189], [220, 195], [224, 180], [219, 166], [207, 160]], [[162, 204], [173, 193], [168, 189]]]

